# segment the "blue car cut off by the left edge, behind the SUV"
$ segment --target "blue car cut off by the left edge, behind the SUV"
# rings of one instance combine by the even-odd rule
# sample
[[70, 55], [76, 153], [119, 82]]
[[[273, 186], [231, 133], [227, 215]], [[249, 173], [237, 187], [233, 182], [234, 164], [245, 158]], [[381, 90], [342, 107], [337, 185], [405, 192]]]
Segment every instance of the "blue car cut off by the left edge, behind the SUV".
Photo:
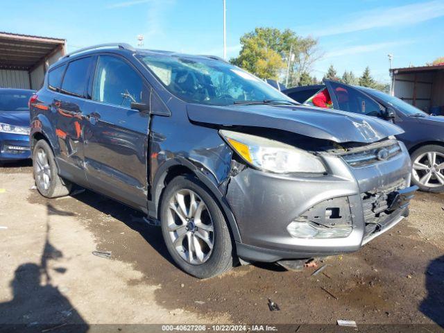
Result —
[[31, 158], [28, 89], [0, 89], [0, 163]]

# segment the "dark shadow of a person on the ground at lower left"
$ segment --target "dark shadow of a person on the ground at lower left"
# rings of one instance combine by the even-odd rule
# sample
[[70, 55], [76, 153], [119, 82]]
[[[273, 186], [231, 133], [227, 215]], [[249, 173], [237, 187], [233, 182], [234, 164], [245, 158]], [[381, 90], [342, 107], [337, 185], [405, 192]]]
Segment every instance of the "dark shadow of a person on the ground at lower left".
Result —
[[[46, 237], [40, 264], [28, 262], [17, 267], [10, 282], [12, 300], [0, 303], [0, 332], [87, 332], [83, 318], [58, 289], [51, 283], [49, 260], [63, 257], [62, 251], [49, 241], [49, 216], [73, 215], [46, 204]], [[54, 268], [65, 273], [64, 267]], [[76, 325], [72, 325], [76, 324]]]

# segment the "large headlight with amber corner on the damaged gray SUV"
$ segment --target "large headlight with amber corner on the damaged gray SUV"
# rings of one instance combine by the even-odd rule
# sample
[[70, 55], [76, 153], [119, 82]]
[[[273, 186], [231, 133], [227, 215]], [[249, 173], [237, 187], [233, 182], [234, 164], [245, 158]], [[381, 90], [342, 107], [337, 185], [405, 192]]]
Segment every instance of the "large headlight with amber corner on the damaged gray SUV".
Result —
[[220, 130], [221, 136], [248, 164], [275, 173], [325, 173], [315, 155], [288, 144], [231, 130]]

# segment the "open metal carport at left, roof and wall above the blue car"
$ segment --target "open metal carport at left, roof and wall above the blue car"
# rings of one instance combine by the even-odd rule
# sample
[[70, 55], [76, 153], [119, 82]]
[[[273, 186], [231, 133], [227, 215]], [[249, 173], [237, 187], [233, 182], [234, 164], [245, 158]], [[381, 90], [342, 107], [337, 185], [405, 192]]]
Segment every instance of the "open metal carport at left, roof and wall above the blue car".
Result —
[[0, 87], [39, 89], [49, 65], [66, 53], [66, 40], [0, 32]]

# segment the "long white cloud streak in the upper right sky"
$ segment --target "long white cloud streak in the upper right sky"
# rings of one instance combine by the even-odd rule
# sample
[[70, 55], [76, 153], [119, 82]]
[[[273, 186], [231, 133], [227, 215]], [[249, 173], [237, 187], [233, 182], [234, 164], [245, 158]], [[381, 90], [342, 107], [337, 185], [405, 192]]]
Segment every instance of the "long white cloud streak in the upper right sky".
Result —
[[316, 37], [352, 33], [389, 26], [408, 26], [444, 16], [444, 1], [434, 0], [410, 5], [376, 8], [364, 12], [354, 12], [347, 17], [337, 17], [323, 28], [300, 27]]

